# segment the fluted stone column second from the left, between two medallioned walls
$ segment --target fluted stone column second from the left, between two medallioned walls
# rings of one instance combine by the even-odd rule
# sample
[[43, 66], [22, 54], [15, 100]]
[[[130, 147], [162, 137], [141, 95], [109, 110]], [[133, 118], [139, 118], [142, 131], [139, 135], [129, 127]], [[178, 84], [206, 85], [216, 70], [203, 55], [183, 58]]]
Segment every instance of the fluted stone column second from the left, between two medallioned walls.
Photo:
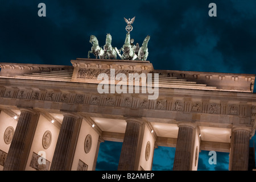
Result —
[[52, 158], [51, 171], [66, 171], [70, 166], [68, 161], [69, 152], [71, 152], [72, 135], [76, 129], [78, 117], [74, 114], [64, 114], [61, 124], [59, 137]]

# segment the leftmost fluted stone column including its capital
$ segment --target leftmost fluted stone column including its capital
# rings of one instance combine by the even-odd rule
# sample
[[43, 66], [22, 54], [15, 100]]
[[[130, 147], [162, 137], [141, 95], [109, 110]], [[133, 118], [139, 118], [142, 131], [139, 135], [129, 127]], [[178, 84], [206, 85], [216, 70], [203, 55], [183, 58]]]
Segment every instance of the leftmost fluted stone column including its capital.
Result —
[[31, 109], [20, 109], [18, 123], [16, 125], [3, 171], [18, 171], [24, 169], [26, 165], [26, 161], [24, 161], [24, 159], [27, 159], [29, 152], [28, 147], [32, 142], [30, 133], [31, 130], [34, 130], [31, 129], [30, 126], [34, 126], [34, 124], [37, 123], [37, 121], [33, 119], [35, 114], [35, 111]]

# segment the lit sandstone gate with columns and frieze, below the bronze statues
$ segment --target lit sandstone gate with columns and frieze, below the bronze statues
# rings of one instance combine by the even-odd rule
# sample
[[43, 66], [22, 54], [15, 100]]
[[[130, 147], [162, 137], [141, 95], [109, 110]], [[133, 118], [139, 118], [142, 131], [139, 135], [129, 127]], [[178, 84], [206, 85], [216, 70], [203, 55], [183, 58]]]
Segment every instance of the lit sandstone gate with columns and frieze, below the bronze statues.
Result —
[[[255, 75], [155, 70], [150, 61], [71, 63], [0, 63], [0, 169], [93, 170], [100, 143], [112, 140], [123, 142], [119, 170], [151, 170], [156, 146], [176, 147], [174, 170], [196, 170], [200, 150], [230, 152], [230, 170], [247, 170]], [[98, 92], [100, 73], [109, 93]], [[159, 76], [155, 100], [142, 93], [140, 76], [150, 73]], [[127, 90], [135, 83], [133, 93], [111, 92], [120, 81]], [[47, 166], [35, 167], [40, 152]]]

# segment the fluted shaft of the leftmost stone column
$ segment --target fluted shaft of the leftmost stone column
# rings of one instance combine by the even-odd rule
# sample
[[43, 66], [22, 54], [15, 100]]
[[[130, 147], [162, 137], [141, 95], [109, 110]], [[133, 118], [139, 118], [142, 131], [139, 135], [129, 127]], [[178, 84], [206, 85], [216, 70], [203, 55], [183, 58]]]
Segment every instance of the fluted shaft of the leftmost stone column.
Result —
[[7, 154], [4, 171], [18, 171], [22, 160], [28, 131], [32, 122], [32, 110], [20, 110], [20, 116]]

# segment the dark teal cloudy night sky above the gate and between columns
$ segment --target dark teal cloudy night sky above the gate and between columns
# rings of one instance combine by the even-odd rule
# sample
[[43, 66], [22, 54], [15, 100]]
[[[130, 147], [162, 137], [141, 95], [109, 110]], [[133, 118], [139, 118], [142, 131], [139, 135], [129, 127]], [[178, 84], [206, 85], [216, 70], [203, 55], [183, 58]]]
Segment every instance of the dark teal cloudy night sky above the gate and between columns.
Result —
[[[208, 15], [212, 2], [216, 17]], [[46, 17], [38, 16], [39, 3]], [[121, 48], [123, 18], [136, 16], [131, 38], [141, 45], [150, 35], [147, 60], [155, 69], [255, 74], [255, 10], [255, 0], [1, 1], [0, 62], [71, 65], [87, 57], [90, 35], [104, 46], [110, 33], [112, 46]], [[101, 143], [96, 169], [116, 170], [121, 146]], [[200, 152], [199, 170], [228, 170], [228, 153], [217, 152], [210, 165], [208, 152]], [[172, 170], [175, 148], [154, 154], [153, 170]]]

